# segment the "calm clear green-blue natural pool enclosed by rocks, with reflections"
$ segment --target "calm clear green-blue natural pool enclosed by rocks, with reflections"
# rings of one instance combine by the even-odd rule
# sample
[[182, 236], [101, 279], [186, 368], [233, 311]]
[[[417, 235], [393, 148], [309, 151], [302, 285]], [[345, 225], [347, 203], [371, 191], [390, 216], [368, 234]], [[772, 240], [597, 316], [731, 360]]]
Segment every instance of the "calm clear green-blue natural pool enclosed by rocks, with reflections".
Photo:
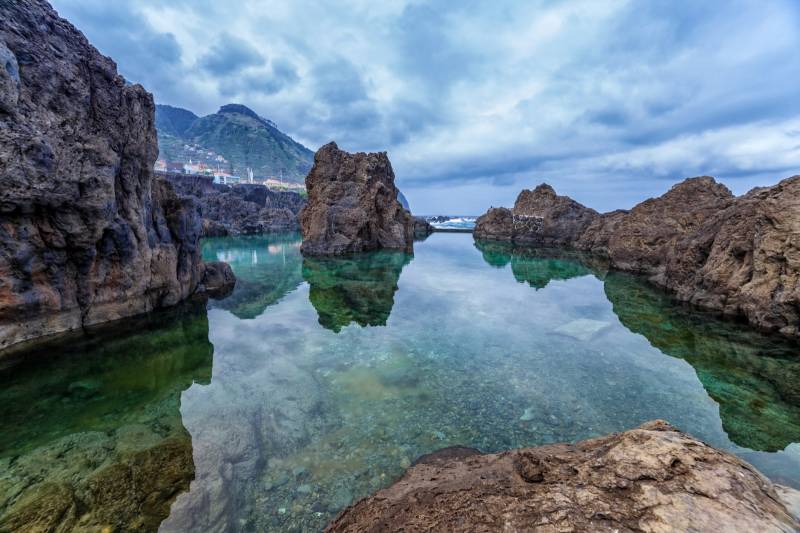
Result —
[[800, 348], [570, 254], [223, 238], [227, 299], [0, 359], [0, 530], [319, 530], [417, 457], [664, 418], [800, 487]]

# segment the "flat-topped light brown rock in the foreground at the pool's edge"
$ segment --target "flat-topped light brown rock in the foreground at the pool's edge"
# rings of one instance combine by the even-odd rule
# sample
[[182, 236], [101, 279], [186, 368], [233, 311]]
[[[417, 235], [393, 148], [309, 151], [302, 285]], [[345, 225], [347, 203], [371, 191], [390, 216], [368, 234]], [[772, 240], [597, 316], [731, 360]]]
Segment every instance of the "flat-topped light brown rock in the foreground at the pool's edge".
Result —
[[577, 444], [422, 457], [327, 531], [797, 531], [772, 483], [662, 421]]

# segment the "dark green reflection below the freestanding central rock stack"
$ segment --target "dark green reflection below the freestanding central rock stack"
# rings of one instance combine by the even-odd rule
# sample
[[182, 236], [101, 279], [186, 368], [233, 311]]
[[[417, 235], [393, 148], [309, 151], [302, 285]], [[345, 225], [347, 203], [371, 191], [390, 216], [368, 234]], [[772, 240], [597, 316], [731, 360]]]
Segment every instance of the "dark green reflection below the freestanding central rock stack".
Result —
[[412, 255], [382, 250], [350, 257], [303, 259], [303, 279], [319, 323], [339, 332], [355, 322], [384, 326], [394, 306], [400, 272]]

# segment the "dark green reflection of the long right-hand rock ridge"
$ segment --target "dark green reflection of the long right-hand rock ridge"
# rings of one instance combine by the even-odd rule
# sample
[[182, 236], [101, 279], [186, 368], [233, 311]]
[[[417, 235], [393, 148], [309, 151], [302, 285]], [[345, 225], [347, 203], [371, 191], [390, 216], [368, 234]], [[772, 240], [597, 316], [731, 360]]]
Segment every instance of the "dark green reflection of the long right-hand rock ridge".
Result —
[[622, 325], [643, 335], [662, 353], [694, 367], [720, 406], [731, 441], [759, 451], [800, 442], [800, 360], [797, 344], [762, 335], [677, 303], [629, 274], [607, 273], [580, 253], [476, 242], [484, 260], [511, 265], [517, 281], [535, 288], [554, 279], [594, 274]]

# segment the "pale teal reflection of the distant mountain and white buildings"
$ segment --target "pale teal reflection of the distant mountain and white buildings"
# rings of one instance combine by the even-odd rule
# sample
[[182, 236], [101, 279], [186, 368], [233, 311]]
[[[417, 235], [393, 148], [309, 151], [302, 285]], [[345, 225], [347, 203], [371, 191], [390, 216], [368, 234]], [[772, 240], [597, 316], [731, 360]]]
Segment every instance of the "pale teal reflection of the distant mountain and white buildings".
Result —
[[300, 244], [296, 233], [207, 239], [203, 258], [219, 261], [224, 257], [237, 278], [233, 293], [210, 307], [243, 319], [261, 315], [303, 282]]

